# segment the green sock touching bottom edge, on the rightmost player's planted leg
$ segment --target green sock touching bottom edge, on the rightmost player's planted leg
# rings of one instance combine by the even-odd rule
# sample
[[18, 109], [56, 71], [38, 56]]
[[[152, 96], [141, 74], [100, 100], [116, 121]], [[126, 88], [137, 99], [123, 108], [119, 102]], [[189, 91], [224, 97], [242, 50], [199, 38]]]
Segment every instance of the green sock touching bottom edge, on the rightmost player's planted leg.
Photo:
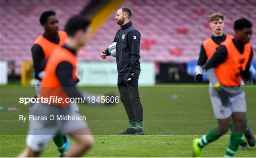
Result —
[[229, 141], [229, 147], [227, 148], [224, 157], [233, 157], [235, 155], [241, 143], [242, 136], [243, 133], [239, 133], [235, 129], [232, 131]]

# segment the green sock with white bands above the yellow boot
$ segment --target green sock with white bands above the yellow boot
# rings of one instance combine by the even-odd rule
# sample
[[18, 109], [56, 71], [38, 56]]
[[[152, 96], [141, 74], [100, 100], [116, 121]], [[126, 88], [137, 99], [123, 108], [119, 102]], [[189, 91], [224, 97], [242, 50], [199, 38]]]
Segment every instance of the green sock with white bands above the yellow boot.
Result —
[[221, 135], [217, 132], [217, 127], [210, 129], [208, 134], [202, 136], [198, 142], [199, 147], [204, 147], [206, 144], [216, 141]]

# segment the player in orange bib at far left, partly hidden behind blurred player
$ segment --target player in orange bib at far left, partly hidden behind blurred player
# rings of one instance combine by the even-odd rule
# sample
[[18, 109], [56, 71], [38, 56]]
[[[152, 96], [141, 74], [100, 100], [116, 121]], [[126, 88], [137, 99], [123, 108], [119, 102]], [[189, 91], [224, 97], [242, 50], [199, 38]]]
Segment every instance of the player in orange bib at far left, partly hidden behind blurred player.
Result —
[[[64, 31], [59, 30], [59, 20], [54, 11], [43, 12], [39, 21], [44, 27], [45, 32], [37, 38], [31, 48], [34, 64], [34, 77], [36, 78], [36, 93], [38, 93], [41, 85], [46, 59], [57, 46], [63, 45], [67, 40], [67, 34]], [[66, 150], [68, 150], [70, 146], [68, 137], [57, 134], [53, 140], [60, 156], [64, 156]]]

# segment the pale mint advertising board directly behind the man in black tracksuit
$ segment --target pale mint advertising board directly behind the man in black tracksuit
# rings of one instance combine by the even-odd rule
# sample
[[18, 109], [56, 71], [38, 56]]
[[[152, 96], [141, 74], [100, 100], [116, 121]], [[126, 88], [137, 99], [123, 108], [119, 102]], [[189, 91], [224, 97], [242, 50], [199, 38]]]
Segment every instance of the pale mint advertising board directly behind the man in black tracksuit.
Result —
[[[78, 85], [117, 85], [116, 62], [80, 62]], [[139, 85], [155, 85], [155, 63], [141, 62]]]

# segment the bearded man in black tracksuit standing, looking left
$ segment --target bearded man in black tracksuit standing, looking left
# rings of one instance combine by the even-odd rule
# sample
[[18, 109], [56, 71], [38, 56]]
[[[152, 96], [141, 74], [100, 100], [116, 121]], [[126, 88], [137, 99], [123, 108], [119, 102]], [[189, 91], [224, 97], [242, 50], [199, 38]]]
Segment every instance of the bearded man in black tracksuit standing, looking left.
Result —
[[[143, 110], [138, 93], [140, 33], [129, 20], [131, 15], [129, 8], [120, 8], [117, 11], [116, 20], [121, 28], [113, 41], [117, 42], [118, 88], [130, 124], [126, 131], [119, 134], [144, 135], [142, 129]], [[110, 56], [108, 49], [101, 51], [101, 58], [105, 59], [106, 56]]]

